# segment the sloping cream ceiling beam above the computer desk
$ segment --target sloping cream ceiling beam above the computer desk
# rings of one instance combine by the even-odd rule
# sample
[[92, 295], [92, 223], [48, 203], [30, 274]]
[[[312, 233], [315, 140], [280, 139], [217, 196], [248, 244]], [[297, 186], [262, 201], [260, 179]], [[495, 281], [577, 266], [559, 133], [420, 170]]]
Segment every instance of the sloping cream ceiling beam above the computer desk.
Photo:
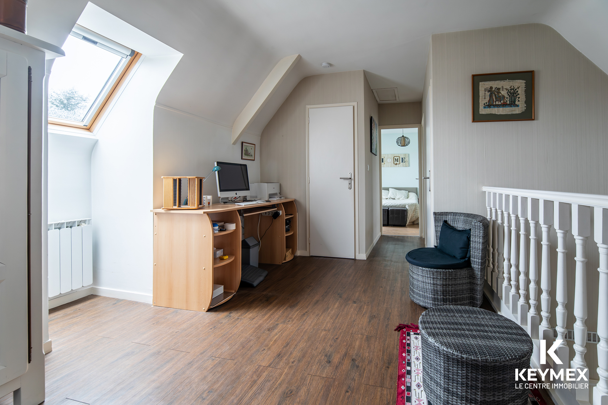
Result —
[[249, 103], [245, 106], [241, 114], [232, 125], [232, 145], [236, 145], [241, 136], [245, 133], [249, 125], [254, 122], [264, 105], [270, 100], [272, 94], [277, 90], [283, 79], [287, 77], [291, 69], [300, 60], [300, 55], [289, 55], [278, 61], [277, 66], [272, 69], [264, 83], [255, 92], [254, 97], [251, 97]]

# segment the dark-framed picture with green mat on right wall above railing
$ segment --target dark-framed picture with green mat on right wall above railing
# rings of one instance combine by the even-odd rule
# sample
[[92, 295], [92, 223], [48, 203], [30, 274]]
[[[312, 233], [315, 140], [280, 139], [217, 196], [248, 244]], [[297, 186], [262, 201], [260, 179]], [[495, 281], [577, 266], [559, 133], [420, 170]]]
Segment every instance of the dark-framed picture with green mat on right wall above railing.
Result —
[[534, 120], [534, 71], [471, 75], [472, 122]]

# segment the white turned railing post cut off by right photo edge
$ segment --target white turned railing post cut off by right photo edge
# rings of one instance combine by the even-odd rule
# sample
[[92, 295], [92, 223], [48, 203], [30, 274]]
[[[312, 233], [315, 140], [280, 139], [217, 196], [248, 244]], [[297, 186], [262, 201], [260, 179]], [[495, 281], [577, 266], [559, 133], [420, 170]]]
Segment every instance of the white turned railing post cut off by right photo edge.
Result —
[[608, 404], [608, 209], [595, 207], [593, 235], [599, 249], [598, 295], [598, 384], [593, 387], [593, 405]]

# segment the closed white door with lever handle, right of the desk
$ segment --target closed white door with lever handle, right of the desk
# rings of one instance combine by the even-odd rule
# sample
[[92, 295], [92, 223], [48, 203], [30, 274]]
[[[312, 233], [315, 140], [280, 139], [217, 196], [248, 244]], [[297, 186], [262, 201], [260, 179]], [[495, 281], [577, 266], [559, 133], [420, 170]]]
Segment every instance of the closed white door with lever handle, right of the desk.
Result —
[[354, 258], [354, 106], [308, 109], [310, 254]]

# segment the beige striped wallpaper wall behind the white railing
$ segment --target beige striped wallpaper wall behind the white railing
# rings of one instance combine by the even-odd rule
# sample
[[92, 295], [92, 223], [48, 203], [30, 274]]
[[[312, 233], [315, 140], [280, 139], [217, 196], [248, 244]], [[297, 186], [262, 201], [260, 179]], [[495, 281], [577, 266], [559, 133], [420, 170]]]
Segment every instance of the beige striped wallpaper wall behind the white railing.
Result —
[[[534, 121], [471, 122], [472, 74], [528, 70], [535, 71]], [[483, 185], [608, 194], [607, 94], [608, 75], [544, 24], [433, 35], [434, 209], [485, 215]], [[556, 238], [551, 235], [554, 268]], [[570, 237], [568, 328], [575, 320], [574, 246]], [[586, 323], [596, 331], [598, 250], [592, 238], [587, 255]], [[553, 324], [555, 307], [553, 302]], [[587, 348], [590, 373], [597, 378], [596, 345]]]

